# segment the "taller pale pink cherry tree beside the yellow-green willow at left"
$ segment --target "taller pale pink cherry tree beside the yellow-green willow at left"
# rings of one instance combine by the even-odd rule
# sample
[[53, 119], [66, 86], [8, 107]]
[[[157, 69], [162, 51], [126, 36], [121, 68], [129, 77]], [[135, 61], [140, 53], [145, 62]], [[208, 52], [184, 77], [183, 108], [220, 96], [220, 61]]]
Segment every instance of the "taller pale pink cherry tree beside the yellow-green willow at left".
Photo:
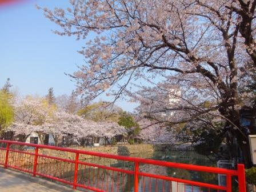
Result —
[[[51, 133], [57, 143], [59, 135], [65, 133], [65, 123], [71, 119], [66, 113], [58, 113], [54, 105], [50, 105], [46, 99], [39, 97], [18, 98], [15, 101], [14, 109], [15, 122], [9, 127], [9, 130], [14, 131], [15, 135], [19, 135], [23, 142], [31, 133], [38, 133], [43, 144], [43, 134]], [[55, 123], [55, 125], [53, 126], [51, 123]]]

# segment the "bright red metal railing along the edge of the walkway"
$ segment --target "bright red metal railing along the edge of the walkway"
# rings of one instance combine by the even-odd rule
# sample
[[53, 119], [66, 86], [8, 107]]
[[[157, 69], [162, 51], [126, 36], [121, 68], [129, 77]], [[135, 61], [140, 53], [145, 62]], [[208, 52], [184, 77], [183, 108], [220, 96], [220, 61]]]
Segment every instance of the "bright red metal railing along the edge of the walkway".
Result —
[[[39, 175], [63, 182], [72, 185], [73, 189], [81, 187], [91, 191], [230, 192], [232, 191], [232, 178], [237, 177], [239, 192], [246, 191], [245, 170], [242, 164], [238, 164], [237, 170], [228, 170], [15, 141], [0, 140], [1, 145], [0, 165], [5, 168], [25, 171], [33, 174], [34, 177]], [[25, 146], [33, 148], [24, 150]], [[57, 155], [44, 154], [47, 149], [50, 150], [50, 153], [57, 153]], [[62, 153], [65, 154], [63, 155]], [[61, 157], [62, 155], [65, 158]], [[91, 159], [89, 157], [99, 157], [99, 163], [95, 163], [95, 158]], [[115, 161], [118, 166], [108, 166], [110, 163], [103, 163], [102, 159]], [[225, 174], [226, 186], [170, 177], [168, 174], [163, 174], [168, 170], [170, 171], [170, 169], [181, 169], [183, 171], [192, 171], [193, 173], [196, 171], [201, 174], [202, 172]], [[159, 174], [157, 173], [158, 170], [165, 171]]]

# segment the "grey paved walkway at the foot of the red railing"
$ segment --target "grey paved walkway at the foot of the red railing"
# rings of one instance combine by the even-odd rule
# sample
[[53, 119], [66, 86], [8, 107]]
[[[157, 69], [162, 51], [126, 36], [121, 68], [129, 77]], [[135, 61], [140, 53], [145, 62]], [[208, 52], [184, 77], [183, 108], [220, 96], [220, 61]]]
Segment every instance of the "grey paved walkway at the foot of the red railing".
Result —
[[[63, 184], [47, 181], [42, 178], [32, 177], [24, 173], [17, 173], [0, 167], [0, 191], [1, 192], [75, 192]], [[78, 191], [77, 191], [78, 192]]]

